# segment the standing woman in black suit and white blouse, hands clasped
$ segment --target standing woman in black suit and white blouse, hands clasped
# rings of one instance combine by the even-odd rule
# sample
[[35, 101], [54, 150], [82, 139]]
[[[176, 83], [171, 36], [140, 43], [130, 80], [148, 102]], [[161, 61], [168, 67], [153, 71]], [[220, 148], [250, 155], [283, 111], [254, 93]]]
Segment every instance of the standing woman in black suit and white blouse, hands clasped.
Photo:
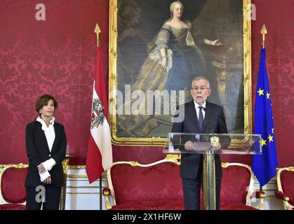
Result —
[[62, 160], [67, 138], [63, 125], [53, 114], [58, 107], [54, 97], [44, 94], [36, 101], [39, 116], [27, 124], [25, 140], [29, 168], [25, 181], [27, 210], [58, 210], [63, 181]]

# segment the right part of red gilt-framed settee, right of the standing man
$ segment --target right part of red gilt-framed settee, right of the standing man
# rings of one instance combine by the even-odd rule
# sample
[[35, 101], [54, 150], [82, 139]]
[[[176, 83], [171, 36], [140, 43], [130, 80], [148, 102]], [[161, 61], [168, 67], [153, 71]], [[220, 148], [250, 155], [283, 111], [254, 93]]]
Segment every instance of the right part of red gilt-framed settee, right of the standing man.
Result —
[[253, 190], [254, 174], [248, 165], [222, 163], [222, 183], [220, 190], [221, 210], [255, 210], [250, 203], [260, 199], [260, 209], [264, 209], [265, 193]]

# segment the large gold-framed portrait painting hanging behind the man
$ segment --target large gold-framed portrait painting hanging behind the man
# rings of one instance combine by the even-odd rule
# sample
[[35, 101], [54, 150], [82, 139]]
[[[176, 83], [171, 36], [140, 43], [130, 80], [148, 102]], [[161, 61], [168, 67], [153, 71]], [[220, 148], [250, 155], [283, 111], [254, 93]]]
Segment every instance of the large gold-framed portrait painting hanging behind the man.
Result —
[[110, 1], [113, 143], [164, 144], [196, 76], [210, 80], [229, 133], [251, 133], [248, 13], [249, 0]]

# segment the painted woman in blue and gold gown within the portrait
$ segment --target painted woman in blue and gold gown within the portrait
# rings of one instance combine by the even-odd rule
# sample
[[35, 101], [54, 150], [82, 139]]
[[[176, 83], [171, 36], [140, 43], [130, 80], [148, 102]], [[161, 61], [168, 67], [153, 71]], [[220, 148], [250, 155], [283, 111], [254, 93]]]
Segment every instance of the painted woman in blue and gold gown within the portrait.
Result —
[[[205, 76], [206, 73], [203, 53], [195, 42], [222, 45], [219, 40], [204, 38], [198, 29], [192, 27], [191, 22], [182, 20], [184, 6], [180, 1], [171, 3], [170, 10], [171, 18], [149, 44], [149, 57], [131, 86], [131, 92], [142, 90], [147, 96], [148, 90], [189, 90], [193, 78], [197, 75]], [[123, 105], [123, 109], [131, 107], [131, 115], [118, 116], [118, 131], [130, 137], [146, 137], [159, 123], [154, 116], [146, 115], [147, 102], [134, 108], [135, 101], [131, 99], [131, 102]]]

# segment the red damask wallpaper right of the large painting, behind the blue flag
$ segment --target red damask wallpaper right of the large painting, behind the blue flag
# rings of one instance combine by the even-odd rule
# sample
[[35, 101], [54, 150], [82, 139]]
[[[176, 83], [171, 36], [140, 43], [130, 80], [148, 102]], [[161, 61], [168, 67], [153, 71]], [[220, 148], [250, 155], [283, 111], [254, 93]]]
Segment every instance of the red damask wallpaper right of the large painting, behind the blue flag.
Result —
[[[267, 72], [274, 113], [278, 167], [294, 165], [294, 1], [254, 0], [252, 23], [253, 105], [260, 58], [263, 24], [267, 27]], [[254, 113], [253, 113], [254, 114]]]

